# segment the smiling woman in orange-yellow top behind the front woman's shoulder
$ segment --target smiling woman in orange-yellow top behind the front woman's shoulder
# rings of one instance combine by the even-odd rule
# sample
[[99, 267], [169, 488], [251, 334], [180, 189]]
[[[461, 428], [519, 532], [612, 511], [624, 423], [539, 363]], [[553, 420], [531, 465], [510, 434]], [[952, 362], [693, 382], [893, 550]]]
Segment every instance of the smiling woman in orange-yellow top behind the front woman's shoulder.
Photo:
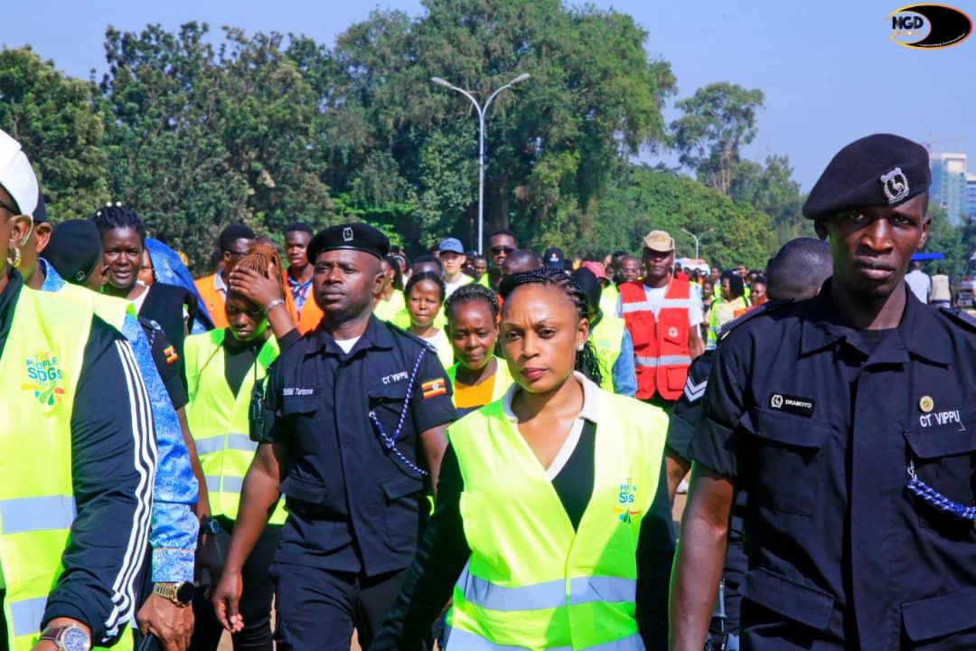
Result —
[[511, 386], [505, 360], [495, 356], [498, 296], [481, 285], [465, 285], [444, 305], [447, 338], [458, 363], [447, 369], [458, 416], [498, 400]]

